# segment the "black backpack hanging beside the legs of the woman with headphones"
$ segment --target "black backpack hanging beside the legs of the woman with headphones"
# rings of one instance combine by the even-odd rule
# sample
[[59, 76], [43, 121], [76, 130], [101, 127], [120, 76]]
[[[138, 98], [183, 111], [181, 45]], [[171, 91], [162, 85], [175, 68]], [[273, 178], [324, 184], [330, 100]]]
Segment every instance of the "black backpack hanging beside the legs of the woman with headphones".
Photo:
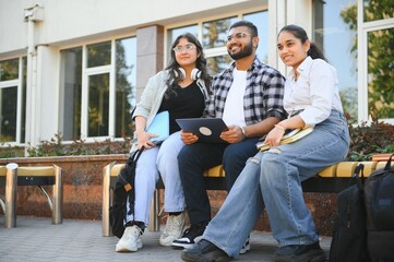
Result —
[[130, 214], [134, 214], [134, 179], [135, 166], [144, 147], [135, 151], [128, 159], [128, 163], [120, 170], [114, 189], [114, 203], [109, 207], [109, 223], [115, 236], [121, 238], [124, 231], [124, 219], [127, 212], [127, 199], [129, 196]]

